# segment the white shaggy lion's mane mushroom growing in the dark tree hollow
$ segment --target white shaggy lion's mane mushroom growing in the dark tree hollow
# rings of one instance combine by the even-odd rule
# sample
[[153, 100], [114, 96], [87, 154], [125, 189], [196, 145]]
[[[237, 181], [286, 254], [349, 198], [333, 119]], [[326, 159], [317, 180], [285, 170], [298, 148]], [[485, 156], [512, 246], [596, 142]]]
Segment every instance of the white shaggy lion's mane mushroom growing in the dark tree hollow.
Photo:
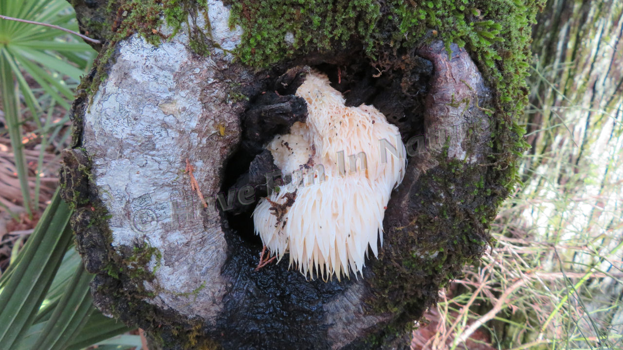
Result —
[[307, 102], [307, 121], [267, 146], [292, 180], [257, 204], [255, 232], [311, 278], [314, 270], [323, 278], [348, 277], [349, 268], [356, 275], [368, 246], [376, 256], [379, 235], [383, 243], [384, 212], [406, 167], [404, 144], [373, 106], [345, 106], [325, 75], [308, 74], [296, 95]]

